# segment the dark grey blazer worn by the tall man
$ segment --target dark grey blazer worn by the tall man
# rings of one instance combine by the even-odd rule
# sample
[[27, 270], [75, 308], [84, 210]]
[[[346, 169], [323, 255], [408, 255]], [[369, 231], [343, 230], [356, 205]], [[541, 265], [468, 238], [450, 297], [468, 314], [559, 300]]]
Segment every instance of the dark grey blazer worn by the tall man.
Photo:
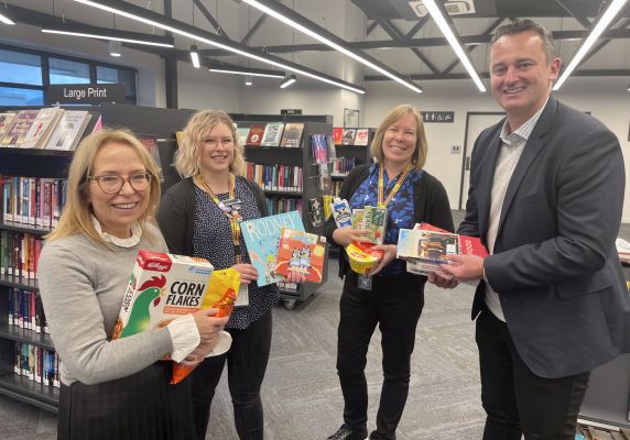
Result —
[[[477, 139], [459, 233], [488, 232], [503, 121]], [[525, 364], [562, 377], [630, 352], [630, 296], [615, 249], [626, 185], [615, 134], [551, 97], [514, 169], [486, 278]], [[477, 287], [472, 318], [484, 307]]]

